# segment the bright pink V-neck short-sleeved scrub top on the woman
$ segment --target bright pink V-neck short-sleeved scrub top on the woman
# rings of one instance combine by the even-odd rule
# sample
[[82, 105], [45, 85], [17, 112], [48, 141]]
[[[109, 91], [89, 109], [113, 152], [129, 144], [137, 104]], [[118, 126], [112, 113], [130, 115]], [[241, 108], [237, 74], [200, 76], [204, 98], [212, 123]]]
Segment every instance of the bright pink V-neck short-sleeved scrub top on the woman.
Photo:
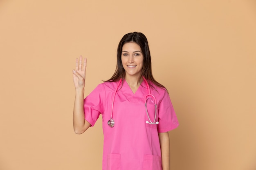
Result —
[[[159, 132], [168, 132], [179, 125], [173, 105], [166, 90], [151, 83], [151, 94], [157, 100], [159, 124], [147, 124], [144, 98], [148, 94], [143, 81], [134, 94], [125, 80], [115, 95], [113, 119], [115, 126], [108, 126], [112, 100], [118, 82], [99, 84], [84, 99], [85, 119], [94, 126], [102, 115], [104, 135], [103, 170], [162, 170]], [[149, 97], [150, 98], [150, 97]], [[151, 121], [155, 118], [155, 106], [147, 102]]]

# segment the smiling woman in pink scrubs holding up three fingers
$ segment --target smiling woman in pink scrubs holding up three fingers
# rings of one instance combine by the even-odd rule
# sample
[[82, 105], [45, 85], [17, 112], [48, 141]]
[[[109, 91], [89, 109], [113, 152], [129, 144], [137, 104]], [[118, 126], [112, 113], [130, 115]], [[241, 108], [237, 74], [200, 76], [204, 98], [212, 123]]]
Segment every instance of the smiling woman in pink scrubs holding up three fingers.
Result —
[[86, 59], [82, 64], [80, 56], [73, 70], [74, 131], [85, 132], [102, 115], [102, 169], [170, 170], [168, 131], [178, 121], [166, 88], [153, 78], [145, 35], [124, 35], [114, 75], [83, 99], [85, 69]]

